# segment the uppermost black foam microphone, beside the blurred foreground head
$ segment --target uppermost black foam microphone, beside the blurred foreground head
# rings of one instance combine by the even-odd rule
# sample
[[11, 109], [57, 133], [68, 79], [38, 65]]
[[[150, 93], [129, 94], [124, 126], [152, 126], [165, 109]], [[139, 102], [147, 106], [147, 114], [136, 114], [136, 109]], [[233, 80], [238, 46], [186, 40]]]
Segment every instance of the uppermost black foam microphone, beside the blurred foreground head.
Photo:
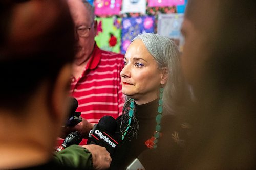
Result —
[[78, 101], [74, 97], [70, 97], [71, 105], [69, 109], [69, 118], [66, 122], [66, 126], [75, 126], [82, 121], [81, 112], [76, 112], [78, 107]]

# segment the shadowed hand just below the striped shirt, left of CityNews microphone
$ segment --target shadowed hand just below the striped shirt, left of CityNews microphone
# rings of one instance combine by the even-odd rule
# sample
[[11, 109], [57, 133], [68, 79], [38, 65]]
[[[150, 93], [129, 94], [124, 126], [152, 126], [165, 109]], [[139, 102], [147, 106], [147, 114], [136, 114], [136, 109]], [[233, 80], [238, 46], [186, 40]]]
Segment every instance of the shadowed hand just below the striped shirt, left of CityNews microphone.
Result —
[[93, 126], [94, 124], [82, 118], [82, 121], [75, 126], [62, 127], [62, 133], [60, 137], [64, 139], [70, 132], [78, 131], [82, 135], [82, 138], [88, 138], [89, 132], [92, 130]]

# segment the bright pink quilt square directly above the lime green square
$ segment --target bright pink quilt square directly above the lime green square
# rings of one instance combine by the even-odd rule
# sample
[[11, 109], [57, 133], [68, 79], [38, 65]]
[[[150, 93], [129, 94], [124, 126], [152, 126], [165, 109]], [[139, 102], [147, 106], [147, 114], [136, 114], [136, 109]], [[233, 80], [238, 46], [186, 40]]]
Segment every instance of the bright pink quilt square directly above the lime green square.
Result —
[[95, 0], [94, 13], [97, 16], [119, 15], [122, 0]]

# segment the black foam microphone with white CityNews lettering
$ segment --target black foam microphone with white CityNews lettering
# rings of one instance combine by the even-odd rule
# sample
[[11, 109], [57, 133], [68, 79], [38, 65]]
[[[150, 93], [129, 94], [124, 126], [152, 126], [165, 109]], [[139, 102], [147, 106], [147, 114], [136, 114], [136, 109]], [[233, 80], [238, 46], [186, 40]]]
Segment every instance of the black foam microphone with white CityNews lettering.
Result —
[[97, 144], [105, 147], [106, 150], [113, 155], [117, 148], [118, 142], [114, 139], [117, 127], [116, 120], [111, 116], [103, 116], [98, 124], [95, 124], [89, 133], [87, 144]]

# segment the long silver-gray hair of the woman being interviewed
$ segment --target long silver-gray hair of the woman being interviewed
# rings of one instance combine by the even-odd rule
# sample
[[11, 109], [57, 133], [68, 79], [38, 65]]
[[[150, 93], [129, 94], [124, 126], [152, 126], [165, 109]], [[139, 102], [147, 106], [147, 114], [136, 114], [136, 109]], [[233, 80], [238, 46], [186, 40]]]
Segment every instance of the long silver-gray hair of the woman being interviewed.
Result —
[[[185, 90], [185, 83], [180, 71], [180, 52], [174, 41], [170, 38], [154, 33], [144, 33], [136, 36], [133, 40], [142, 40], [147, 51], [153, 56], [157, 63], [158, 69], [168, 69], [168, 80], [164, 86], [163, 92], [163, 108], [164, 114], [175, 114], [180, 108]], [[159, 84], [160, 87], [160, 84]], [[121, 118], [120, 131], [127, 126], [129, 119], [129, 107], [131, 99], [126, 96], [126, 101], [123, 106], [123, 114]], [[181, 106], [182, 107], [182, 106]], [[129, 133], [136, 134], [139, 122], [136, 117], [132, 117], [134, 125]]]

